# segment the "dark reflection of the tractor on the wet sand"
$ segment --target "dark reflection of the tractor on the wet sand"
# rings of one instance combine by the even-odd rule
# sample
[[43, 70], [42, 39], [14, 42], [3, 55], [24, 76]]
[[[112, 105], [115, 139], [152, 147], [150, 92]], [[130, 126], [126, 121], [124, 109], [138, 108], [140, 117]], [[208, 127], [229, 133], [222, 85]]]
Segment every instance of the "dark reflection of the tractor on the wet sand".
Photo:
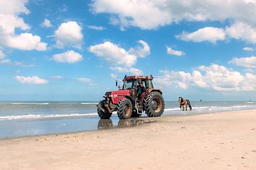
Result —
[[[137, 118], [119, 120], [117, 124], [117, 128], [128, 128], [139, 125], [144, 125], [145, 123], [152, 123], [154, 120], [142, 120]], [[106, 130], [116, 128], [114, 127], [111, 119], [100, 119], [97, 125], [98, 130]]]

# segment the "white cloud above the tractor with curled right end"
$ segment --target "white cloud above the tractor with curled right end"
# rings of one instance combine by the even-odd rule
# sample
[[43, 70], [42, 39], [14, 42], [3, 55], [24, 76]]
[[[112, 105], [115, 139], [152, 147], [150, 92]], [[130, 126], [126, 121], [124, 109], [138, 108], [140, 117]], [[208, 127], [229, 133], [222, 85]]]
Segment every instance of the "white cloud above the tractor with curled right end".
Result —
[[137, 57], [145, 57], [150, 54], [150, 47], [143, 40], [139, 40], [142, 46], [132, 47], [128, 51], [107, 41], [98, 45], [91, 45], [89, 51], [112, 64], [132, 67], [137, 62]]

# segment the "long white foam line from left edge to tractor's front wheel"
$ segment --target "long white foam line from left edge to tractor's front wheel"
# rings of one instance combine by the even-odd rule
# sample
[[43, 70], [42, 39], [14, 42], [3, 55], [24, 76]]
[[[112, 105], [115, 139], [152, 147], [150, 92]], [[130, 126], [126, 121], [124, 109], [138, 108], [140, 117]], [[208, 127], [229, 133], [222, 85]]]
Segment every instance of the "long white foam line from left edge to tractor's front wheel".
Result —
[[84, 114], [54, 114], [54, 115], [4, 115], [0, 116], [0, 120], [18, 120], [18, 119], [38, 119], [38, 118], [74, 118], [80, 116], [94, 116], [97, 113], [84, 113]]

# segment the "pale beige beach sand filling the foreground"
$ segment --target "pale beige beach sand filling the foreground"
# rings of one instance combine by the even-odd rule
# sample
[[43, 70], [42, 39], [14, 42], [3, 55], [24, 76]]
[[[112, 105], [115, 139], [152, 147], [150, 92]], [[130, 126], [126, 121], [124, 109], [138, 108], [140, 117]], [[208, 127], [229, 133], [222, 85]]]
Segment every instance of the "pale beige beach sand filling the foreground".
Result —
[[256, 169], [256, 110], [140, 119], [151, 123], [0, 140], [0, 169]]

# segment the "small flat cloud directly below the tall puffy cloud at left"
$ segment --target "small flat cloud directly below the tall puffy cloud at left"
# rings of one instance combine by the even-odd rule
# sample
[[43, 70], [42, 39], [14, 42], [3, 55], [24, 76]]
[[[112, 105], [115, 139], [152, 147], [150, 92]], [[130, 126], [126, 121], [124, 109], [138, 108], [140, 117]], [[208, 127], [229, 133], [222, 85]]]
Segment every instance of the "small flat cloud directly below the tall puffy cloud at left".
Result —
[[73, 50], [69, 50], [61, 54], [53, 55], [53, 60], [55, 62], [75, 63], [82, 60], [82, 55], [78, 52], [74, 52]]

